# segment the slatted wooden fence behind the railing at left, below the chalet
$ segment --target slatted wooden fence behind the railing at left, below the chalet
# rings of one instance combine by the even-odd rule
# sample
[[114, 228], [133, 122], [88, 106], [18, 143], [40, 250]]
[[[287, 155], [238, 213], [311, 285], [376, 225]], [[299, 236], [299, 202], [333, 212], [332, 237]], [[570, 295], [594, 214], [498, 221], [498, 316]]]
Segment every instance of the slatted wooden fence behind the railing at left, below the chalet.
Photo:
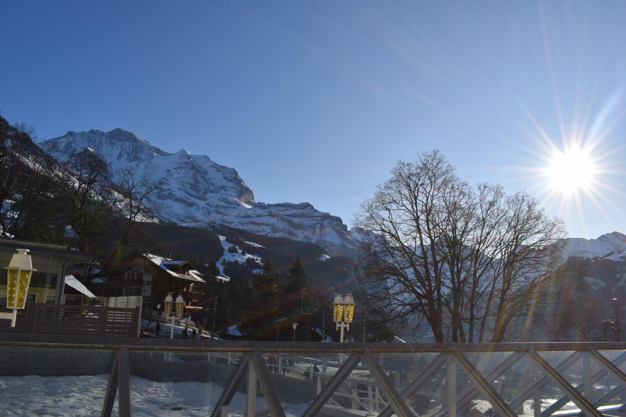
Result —
[[11, 327], [8, 320], [0, 320], [0, 331], [138, 337], [139, 307], [123, 309], [34, 302], [18, 311], [15, 327]]

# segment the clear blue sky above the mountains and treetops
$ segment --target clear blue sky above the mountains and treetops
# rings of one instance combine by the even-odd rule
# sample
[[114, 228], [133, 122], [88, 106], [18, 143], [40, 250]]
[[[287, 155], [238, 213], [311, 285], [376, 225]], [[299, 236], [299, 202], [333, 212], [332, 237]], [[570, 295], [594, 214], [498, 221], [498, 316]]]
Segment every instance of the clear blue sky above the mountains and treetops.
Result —
[[546, 207], [572, 236], [626, 232], [626, 120], [612, 123], [626, 2], [7, 1], [2, 15], [0, 110], [39, 138], [125, 128], [236, 168], [259, 201], [349, 224], [396, 160], [434, 147], [470, 182], [546, 198], [516, 167], [545, 165], [537, 126], [560, 146], [559, 121], [568, 136], [588, 115], [588, 132], [612, 127], [594, 152], [613, 190], [583, 197], [583, 220]]

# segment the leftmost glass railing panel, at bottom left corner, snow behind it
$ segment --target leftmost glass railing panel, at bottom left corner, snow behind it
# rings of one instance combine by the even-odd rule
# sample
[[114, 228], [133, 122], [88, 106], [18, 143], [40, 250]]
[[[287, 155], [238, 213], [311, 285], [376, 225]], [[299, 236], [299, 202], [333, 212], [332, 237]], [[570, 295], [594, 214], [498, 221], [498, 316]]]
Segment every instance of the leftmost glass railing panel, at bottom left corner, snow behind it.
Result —
[[0, 414], [100, 416], [114, 358], [111, 349], [0, 346]]

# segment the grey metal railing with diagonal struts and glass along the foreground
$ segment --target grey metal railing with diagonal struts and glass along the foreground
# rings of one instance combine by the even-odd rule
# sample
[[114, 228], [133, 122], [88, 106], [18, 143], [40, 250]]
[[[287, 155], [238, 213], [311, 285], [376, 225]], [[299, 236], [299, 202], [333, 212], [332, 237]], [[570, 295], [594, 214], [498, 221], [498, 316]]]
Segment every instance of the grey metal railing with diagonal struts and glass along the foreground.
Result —
[[[0, 333], [0, 380], [3, 375], [38, 374], [36, 368], [19, 368], [6, 352], [19, 349], [22, 356], [33, 356], [42, 348], [115, 353], [103, 416], [111, 415], [116, 398], [120, 416], [133, 413], [137, 378], [212, 384], [211, 391], [218, 394], [203, 404], [212, 417], [228, 416], [231, 406], [239, 406], [246, 416], [283, 417], [294, 404], [303, 417], [463, 416], [478, 406], [485, 406], [486, 416], [547, 417], [558, 410], [560, 416], [602, 416], [623, 411], [626, 402], [626, 374], [620, 369], [626, 365], [626, 343], [618, 342], [339, 344]], [[32, 362], [22, 358], [20, 363]], [[326, 369], [314, 371], [318, 364]], [[283, 373], [284, 368], [290, 373]], [[398, 380], [398, 373], [404, 379]], [[257, 396], [264, 399], [264, 409]], [[185, 406], [179, 403], [177, 407]], [[438, 405], [425, 405], [433, 403]]]

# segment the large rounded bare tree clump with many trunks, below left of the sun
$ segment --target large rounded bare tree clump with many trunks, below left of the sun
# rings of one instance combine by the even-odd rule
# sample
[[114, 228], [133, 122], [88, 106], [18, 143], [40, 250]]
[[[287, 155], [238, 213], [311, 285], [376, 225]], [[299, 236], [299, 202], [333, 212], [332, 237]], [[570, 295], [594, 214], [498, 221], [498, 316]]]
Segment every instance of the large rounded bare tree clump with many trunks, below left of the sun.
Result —
[[562, 222], [520, 192], [471, 187], [437, 150], [398, 162], [356, 214], [367, 302], [434, 339], [502, 340], [558, 266]]

